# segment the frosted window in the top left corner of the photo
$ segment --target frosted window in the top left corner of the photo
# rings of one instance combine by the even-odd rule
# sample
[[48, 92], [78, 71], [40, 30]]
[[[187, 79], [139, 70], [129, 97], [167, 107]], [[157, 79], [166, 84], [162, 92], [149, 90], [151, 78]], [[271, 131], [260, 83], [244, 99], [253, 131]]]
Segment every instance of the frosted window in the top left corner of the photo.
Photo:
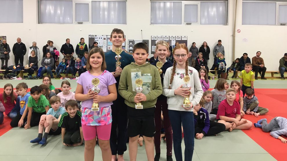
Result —
[[0, 0], [0, 23], [23, 23], [23, 0]]

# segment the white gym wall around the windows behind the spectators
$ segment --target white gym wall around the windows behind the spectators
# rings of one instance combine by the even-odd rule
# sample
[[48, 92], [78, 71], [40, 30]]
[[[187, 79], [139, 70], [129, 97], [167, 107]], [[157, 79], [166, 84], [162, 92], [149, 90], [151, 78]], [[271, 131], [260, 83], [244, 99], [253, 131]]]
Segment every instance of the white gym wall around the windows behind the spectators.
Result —
[[[246, 52], [252, 58], [255, 56], [256, 51], [261, 51], [267, 70], [278, 70], [279, 59], [287, 52], [284, 46], [287, 40], [283, 39], [283, 36], [287, 35], [287, 26], [241, 25], [241, 2], [241, 0], [238, 1], [236, 27], [241, 32], [236, 33], [235, 57], [240, 58]], [[150, 40], [152, 35], [188, 36], [188, 48], [192, 42], [196, 42], [199, 48], [203, 41], [206, 41], [211, 51], [214, 45], [217, 44], [217, 40], [221, 39], [225, 48], [227, 66], [230, 66], [232, 61], [234, 0], [228, 1], [228, 25], [150, 25], [149, 0], [127, 1], [126, 25], [37, 24], [37, 0], [24, 0], [23, 8], [23, 23], [1, 24], [0, 35], [7, 36], [7, 43], [10, 45], [11, 50], [17, 37], [22, 39], [27, 48], [32, 46], [33, 41], [36, 41], [37, 46], [42, 51], [42, 47], [47, 43], [47, 40], [52, 40], [54, 46], [60, 50], [66, 38], [70, 38], [70, 43], [75, 48], [81, 37], [88, 41], [88, 34], [110, 34], [113, 28], [122, 29], [127, 40], [141, 40], [140, 30], [143, 29], [143, 39]], [[248, 42], [242, 41], [244, 38]], [[8, 65], [13, 65], [14, 56], [12, 51], [10, 56]], [[62, 58], [62, 55], [60, 58]], [[28, 52], [24, 56], [24, 64], [26, 63], [28, 63]], [[208, 66], [211, 67], [212, 63], [213, 54], [211, 52]]]

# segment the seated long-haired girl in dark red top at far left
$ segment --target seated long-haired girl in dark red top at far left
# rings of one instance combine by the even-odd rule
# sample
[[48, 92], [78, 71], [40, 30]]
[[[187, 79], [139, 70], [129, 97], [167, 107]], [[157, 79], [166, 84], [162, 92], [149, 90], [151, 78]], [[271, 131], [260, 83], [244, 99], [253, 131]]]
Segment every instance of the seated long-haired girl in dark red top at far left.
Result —
[[[13, 91], [13, 85], [7, 83], [4, 85], [3, 93], [0, 94], [0, 102], [2, 102], [5, 108], [5, 114], [12, 119], [16, 117], [17, 113], [20, 111], [20, 109], [17, 108], [15, 101], [17, 101], [17, 93]], [[1, 116], [4, 117], [4, 115]]]

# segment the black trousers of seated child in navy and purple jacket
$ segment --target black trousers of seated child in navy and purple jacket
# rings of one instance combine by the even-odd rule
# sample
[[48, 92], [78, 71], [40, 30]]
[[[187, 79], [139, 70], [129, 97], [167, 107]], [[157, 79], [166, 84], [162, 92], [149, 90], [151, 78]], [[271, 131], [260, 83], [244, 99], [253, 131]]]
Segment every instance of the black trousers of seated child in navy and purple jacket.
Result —
[[[196, 135], [196, 133], [202, 133], [202, 129], [203, 129], [203, 127], [198, 127], [198, 126], [195, 127], [194, 135]], [[221, 133], [224, 130], [225, 130], [224, 124], [210, 121], [210, 127], [209, 127], [209, 130], [205, 136], [216, 135], [218, 133]]]

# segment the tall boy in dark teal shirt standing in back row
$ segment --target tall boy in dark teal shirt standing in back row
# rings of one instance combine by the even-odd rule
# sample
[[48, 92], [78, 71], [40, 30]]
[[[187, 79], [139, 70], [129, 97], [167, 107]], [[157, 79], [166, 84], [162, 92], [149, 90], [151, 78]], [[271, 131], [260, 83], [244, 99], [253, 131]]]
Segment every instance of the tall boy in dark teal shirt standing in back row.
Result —
[[[122, 68], [130, 63], [134, 62], [132, 55], [127, 54], [122, 51], [121, 56], [121, 67], [116, 67], [117, 60], [115, 56], [115, 49], [117, 47], [121, 48], [122, 44], [126, 41], [123, 30], [114, 28], [111, 33], [110, 41], [112, 42], [112, 50], [105, 54], [106, 57], [106, 70], [112, 73], [115, 77], [117, 83], [116, 87], [119, 87], [119, 78]], [[118, 92], [117, 92], [118, 93]], [[118, 160], [123, 160], [123, 153], [127, 150], [126, 146], [126, 126], [127, 126], [127, 106], [125, 104], [125, 99], [123, 99], [119, 93], [115, 101], [113, 101], [112, 108], [112, 129], [110, 136], [110, 147], [112, 150], [112, 160], [116, 160], [118, 154]], [[119, 108], [120, 107], [120, 108]], [[118, 135], [116, 129], [118, 128]]]

